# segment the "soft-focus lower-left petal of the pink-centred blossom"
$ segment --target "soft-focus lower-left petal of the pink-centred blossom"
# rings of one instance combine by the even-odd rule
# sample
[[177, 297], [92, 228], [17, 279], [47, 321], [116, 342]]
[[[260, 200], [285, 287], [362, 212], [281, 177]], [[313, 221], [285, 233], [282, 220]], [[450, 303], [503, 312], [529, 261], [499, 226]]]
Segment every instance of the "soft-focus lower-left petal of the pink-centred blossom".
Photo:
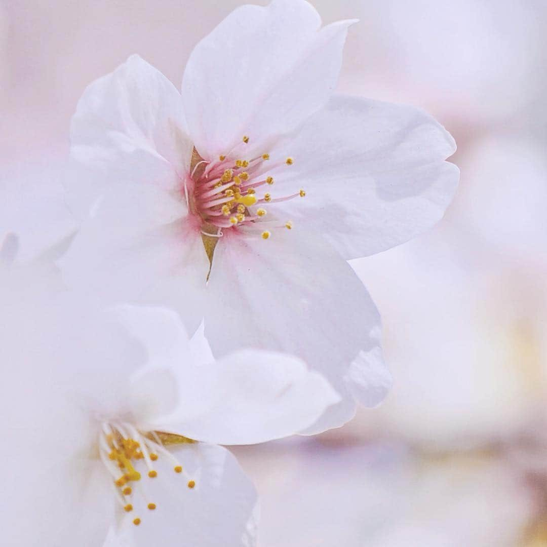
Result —
[[183, 203], [160, 188], [119, 184], [60, 259], [65, 282], [109, 304], [173, 307], [194, 330], [209, 261], [199, 228], [184, 215]]

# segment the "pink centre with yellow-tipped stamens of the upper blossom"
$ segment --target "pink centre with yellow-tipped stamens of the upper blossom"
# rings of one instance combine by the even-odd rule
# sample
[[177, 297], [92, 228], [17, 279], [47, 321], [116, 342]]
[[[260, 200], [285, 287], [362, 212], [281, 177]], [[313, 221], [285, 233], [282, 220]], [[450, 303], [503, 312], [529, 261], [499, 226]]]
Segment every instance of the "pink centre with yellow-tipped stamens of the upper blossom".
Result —
[[[243, 137], [243, 144], [248, 140], [248, 137]], [[237, 158], [234, 153], [238, 148], [240, 146], [215, 161], [197, 161], [190, 173], [195, 183], [193, 207], [203, 224], [207, 225], [207, 234], [220, 236], [223, 229], [247, 226], [257, 229], [267, 239], [271, 232], [264, 229], [266, 227], [290, 230], [293, 227], [290, 220], [283, 224], [269, 223], [265, 217], [267, 205], [306, 195], [304, 190], [300, 190], [292, 195], [272, 197], [270, 187], [274, 184], [274, 177], [269, 173], [281, 165], [293, 165], [293, 159], [270, 165], [269, 154], [249, 160]], [[216, 234], [211, 229], [216, 230]]]

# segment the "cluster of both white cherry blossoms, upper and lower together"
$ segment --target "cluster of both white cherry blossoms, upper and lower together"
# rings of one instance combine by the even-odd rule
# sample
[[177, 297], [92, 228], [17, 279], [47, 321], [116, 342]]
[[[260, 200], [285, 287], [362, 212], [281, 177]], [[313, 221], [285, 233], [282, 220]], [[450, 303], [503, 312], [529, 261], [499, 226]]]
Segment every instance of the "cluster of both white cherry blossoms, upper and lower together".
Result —
[[389, 391], [347, 260], [437, 222], [458, 170], [428, 114], [334, 94], [354, 22], [244, 5], [181, 90], [133, 55], [84, 91], [63, 184], [2, 188], [7, 544], [256, 545], [220, 445]]

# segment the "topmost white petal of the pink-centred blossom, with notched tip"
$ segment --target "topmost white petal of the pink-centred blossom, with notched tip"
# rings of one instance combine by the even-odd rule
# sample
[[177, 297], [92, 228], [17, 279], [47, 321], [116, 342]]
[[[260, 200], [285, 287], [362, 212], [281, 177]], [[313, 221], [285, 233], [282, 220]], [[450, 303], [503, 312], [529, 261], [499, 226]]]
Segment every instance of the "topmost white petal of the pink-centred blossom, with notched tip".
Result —
[[196, 45], [184, 72], [188, 128], [201, 156], [212, 159], [237, 144], [251, 154], [321, 108], [336, 85], [351, 22], [321, 29], [304, 0], [232, 11]]

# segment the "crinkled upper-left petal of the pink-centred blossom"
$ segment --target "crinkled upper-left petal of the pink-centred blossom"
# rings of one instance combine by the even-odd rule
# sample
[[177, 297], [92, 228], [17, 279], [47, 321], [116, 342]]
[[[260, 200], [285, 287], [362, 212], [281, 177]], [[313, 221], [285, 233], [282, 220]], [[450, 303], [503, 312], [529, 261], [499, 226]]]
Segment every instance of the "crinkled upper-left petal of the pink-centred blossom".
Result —
[[78, 102], [71, 158], [91, 173], [88, 179], [75, 172], [68, 183], [71, 203], [78, 206], [79, 194], [89, 201], [89, 185], [96, 195], [117, 183], [174, 188], [188, 171], [191, 152], [181, 94], [161, 72], [132, 55], [91, 83]]

